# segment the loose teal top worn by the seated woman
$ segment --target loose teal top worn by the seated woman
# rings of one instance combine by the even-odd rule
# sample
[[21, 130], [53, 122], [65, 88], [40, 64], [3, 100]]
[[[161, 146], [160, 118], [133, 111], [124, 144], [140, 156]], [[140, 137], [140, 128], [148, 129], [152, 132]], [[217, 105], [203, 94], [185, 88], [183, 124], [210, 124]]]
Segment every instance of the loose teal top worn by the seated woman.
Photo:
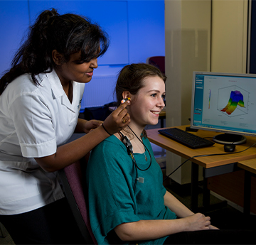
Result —
[[[134, 153], [139, 180], [135, 190], [136, 170], [132, 157], [122, 141], [110, 136], [102, 141], [90, 155], [87, 165], [87, 190], [90, 223], [98, 244], [134, 244], [123, 242], [113, 232], [114, 227], [141, 219], [176, 219], [176, 214], [164, 205], [166, 189], [159, 164], [154, 158], [147, 138], [148, 148], [144, 153]], [[144, 170], [144, 171], [143, 171]], [[166, 237], [150, 241], [135, 241], [138, 244], [164, 244]]]

